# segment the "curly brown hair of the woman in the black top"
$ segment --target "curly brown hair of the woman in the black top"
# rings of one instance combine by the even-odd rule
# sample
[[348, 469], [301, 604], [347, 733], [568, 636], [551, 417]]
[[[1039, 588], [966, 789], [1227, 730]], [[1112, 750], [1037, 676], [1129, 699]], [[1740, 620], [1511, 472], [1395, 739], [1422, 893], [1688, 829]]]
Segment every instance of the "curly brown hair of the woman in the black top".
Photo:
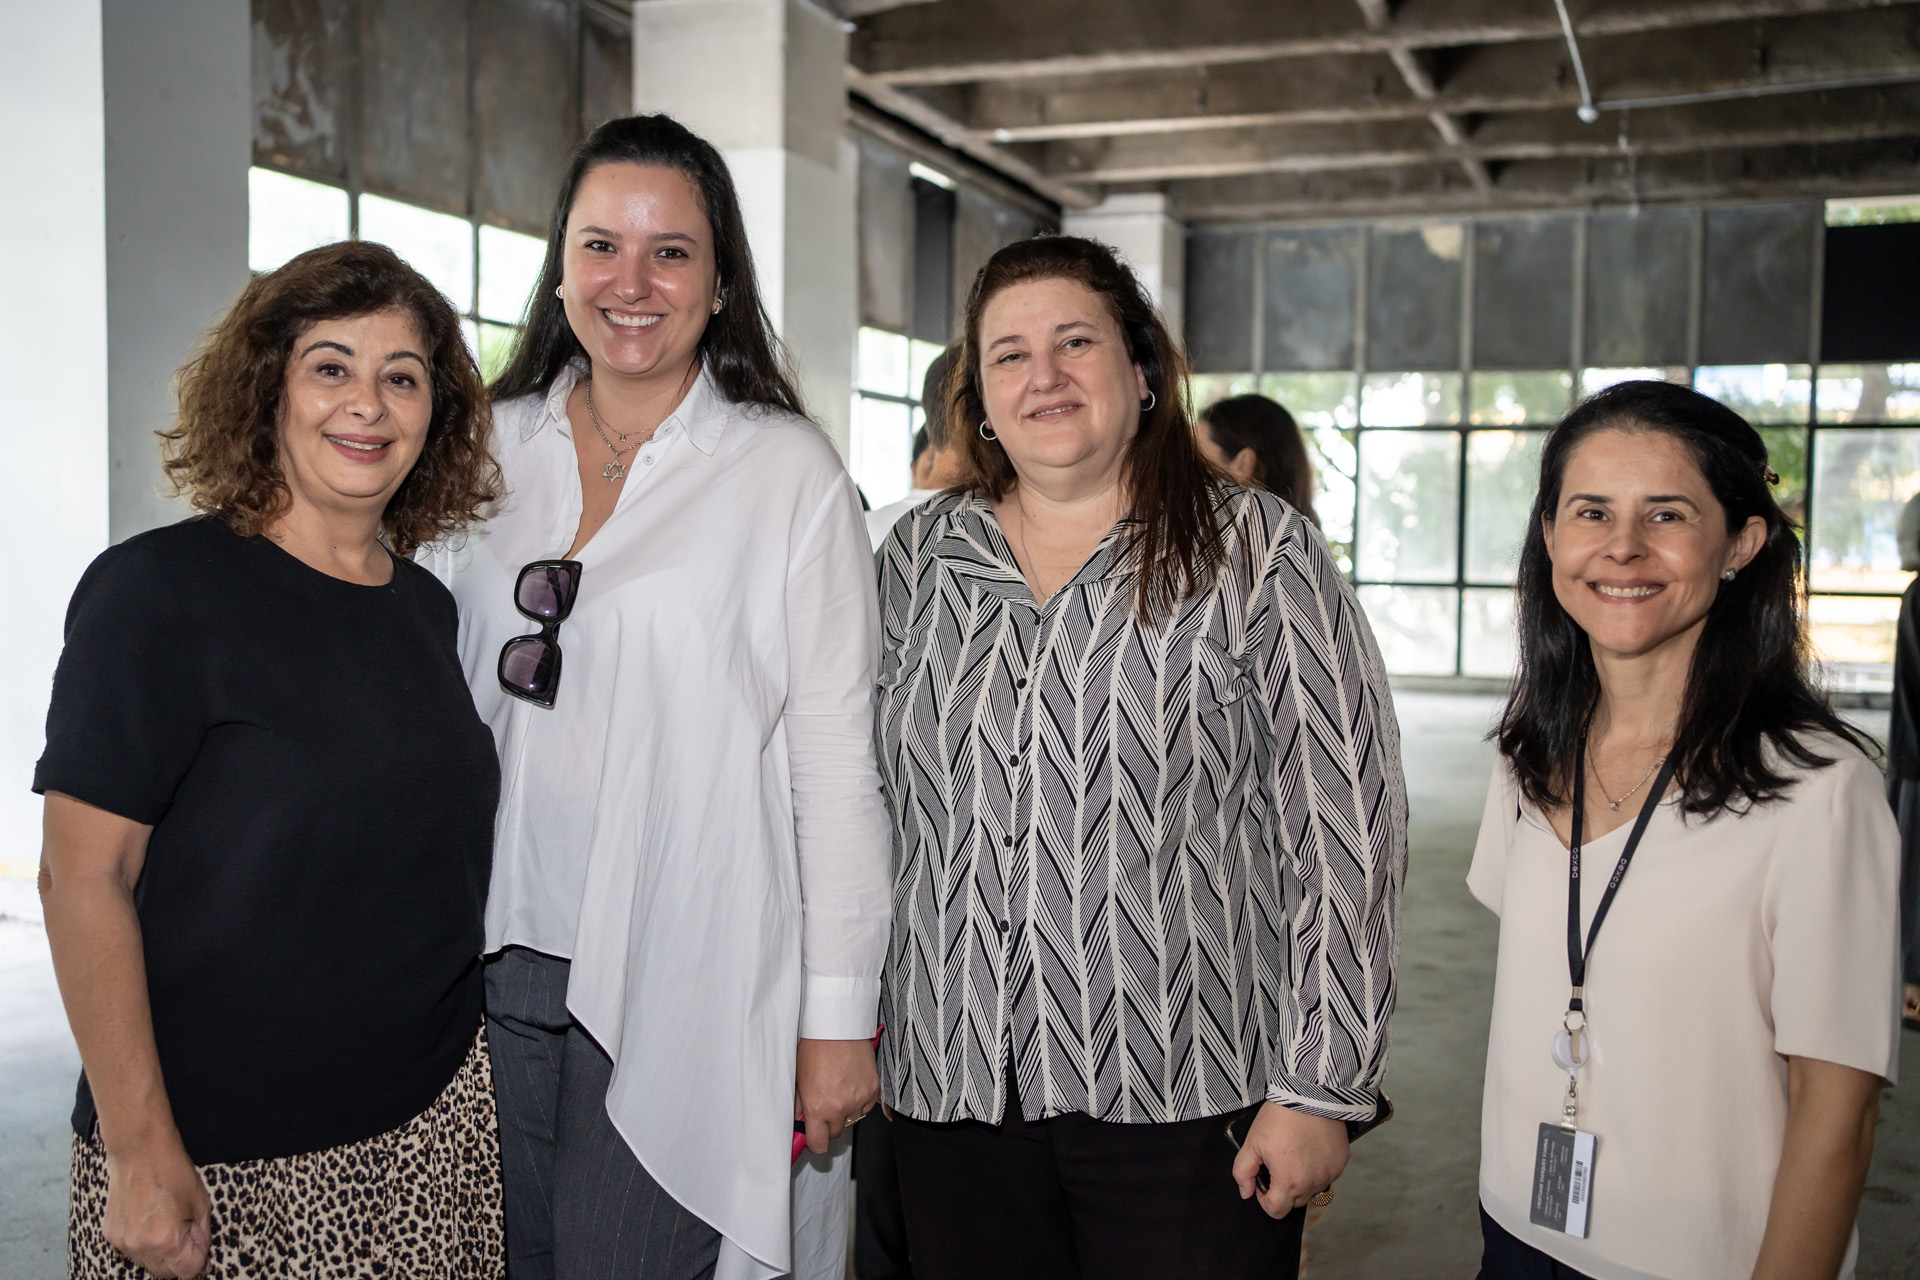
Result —
[[461, 319], [420, 273], [380, 244], [342, 240], [253, 276], [180, 368], [180, 416], [157, 432], [177, 493], [253, 537], [286, 512], [280, 413], [294, 342], [321, 320], [403, 311], [426, 342], [434, 395], [420, 459], [388, 499], [380, 532], [397, 555], [457, 533], [503, 482], [493, 416]]

